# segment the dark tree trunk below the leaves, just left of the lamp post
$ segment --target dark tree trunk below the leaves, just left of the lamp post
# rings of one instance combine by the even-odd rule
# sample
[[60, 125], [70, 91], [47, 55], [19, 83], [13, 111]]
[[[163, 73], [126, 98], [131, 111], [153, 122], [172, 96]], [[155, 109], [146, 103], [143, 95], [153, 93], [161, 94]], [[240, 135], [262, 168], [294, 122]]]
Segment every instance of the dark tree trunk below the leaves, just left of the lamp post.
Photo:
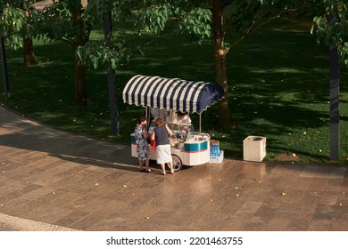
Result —
[[86, 87], [86, 66], [79, 59], [75, 57], [74, 68], [74, 84], [75, 84], [75, 106], [84, 106], [87, 104], [87, 87]]

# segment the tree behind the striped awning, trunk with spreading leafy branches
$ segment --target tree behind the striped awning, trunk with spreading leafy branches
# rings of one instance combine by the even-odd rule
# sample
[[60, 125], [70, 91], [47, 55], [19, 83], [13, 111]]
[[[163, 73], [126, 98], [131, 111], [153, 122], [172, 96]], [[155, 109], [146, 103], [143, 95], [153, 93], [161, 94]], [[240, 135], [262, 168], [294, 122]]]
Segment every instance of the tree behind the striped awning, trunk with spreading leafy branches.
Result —
[[[316, 9], [313, 8], [316, 0], [158, 0], [149, 2], [152, 2], [152, 5], [144, 6], [138, 12], [138, 21], [146, 31], [161, 33], [171, 28], [170, 30], [190, 33], [198, 42], [212, 36], [216, 82], [225, 92], [225, 98], [218, 103], [222, 130], [229, 130], [234, 126], [228, 101], [226, 69], [228, 52], [270, 20], [291, 13], [313, 12]], [[201, 17], [194, 21], [190, 13]]]

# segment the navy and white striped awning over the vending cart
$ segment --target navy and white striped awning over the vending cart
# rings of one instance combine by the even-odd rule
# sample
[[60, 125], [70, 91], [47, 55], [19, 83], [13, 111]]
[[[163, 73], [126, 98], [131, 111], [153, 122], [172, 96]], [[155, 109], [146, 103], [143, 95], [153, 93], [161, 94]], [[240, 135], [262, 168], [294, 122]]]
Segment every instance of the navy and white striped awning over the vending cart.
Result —
[[202, 113], [223, 98], [220, 84], [160, 76], [133, 76], [122, 92], [123, 102], [151, 108]]

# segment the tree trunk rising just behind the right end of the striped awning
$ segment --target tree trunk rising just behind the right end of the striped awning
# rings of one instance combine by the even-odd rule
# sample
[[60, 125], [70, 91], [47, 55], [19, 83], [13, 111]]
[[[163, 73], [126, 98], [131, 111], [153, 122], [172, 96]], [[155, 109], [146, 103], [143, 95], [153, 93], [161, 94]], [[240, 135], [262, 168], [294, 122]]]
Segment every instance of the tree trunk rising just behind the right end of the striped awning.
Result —
[[228, 102], [228, 77], [226, 74], [227, 50], [223, 50], [224, 30], [222, 25], [222, 3], [221, 0], [213, 2], [213, 26], [214, 26], [214, 56], [216, 67], [216, 81], [224, 89], [224, 98], [219, 101], [219, 123], [222, 130], [230, 128], [230, 113]]

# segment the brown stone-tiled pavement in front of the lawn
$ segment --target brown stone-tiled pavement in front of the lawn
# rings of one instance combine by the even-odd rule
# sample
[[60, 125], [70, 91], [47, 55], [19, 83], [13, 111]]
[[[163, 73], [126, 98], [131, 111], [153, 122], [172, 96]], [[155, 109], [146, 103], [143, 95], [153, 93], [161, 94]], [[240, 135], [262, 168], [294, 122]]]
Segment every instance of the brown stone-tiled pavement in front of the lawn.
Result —
[[0, 230], [348, 230], [346, 166], [225, 158], [173, 175], [152, 168], [138, 171], [130, 144], [0, 107]]

